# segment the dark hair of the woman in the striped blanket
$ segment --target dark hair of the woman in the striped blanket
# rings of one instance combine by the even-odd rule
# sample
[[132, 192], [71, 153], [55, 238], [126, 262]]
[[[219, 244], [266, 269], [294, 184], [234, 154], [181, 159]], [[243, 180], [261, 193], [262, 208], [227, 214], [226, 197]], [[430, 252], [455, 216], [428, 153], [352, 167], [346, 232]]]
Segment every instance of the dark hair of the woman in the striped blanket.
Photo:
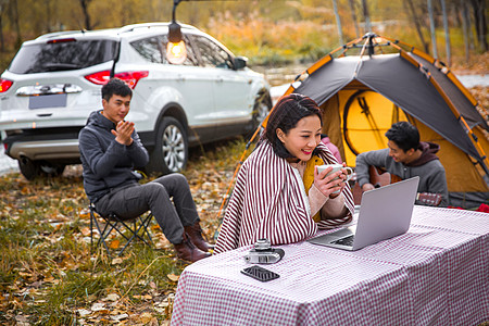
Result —
[[[277, 137], [277, 128], [280, 128], [287, 135], [290, 129], [297, 126], [301, 118], [311, 115], [319, 117], [321, 125], [323, 126], [323, 115], [314, 100], [300, 93], [285, 96], [278, 100], [275, 109], [269, 114], [262, 139], [269, 141], [274, 152], [278, 156], [283, 159], [294, 158]], [[314, 150], [313, 154], [315, 153], [316, 150]]]

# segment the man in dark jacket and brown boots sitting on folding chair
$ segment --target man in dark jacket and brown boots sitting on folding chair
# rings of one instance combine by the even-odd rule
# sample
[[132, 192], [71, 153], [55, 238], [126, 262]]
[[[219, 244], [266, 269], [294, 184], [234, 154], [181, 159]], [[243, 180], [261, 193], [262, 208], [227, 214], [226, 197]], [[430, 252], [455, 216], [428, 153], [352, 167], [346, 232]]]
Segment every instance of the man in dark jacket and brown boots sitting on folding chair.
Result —
[[[113, 78], [102, 87], [102, 110], [93, 111], [78, 136], [84, 187], [102, 216], [130, 220], [150, 210], [177, 256], [195, 262], [210, 256], [185, 176], [178, 173], [140, 185], [135, 167], [148, 163], [129, 113], [133, 90]], [[171, 198], [173, 198], [173, 203]]]

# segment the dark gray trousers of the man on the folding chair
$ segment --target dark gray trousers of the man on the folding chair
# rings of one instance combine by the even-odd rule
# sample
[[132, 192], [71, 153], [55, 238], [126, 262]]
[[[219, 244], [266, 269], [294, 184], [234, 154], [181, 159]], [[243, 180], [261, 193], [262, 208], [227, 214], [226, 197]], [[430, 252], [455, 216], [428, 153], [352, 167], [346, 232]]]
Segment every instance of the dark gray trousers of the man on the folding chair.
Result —
[[96, 208], [101, 215], [114, 213], [122, 220], [134, 218], [150, 210], [172, 243], [183, 241], [184, 226], [199, 221], [187, 179], [178, 173], [115, 190], [99, 199]]

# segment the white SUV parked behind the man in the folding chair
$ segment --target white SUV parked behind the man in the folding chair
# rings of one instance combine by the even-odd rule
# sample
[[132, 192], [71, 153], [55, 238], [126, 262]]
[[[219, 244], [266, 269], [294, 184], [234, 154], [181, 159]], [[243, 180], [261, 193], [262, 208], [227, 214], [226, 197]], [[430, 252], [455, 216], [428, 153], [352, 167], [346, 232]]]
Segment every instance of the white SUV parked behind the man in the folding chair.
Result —
[[187, 59], [167, 62], [167, 23], [60, 32], [23, 43], [0, 79], [0, 135], [22, 174], [79, 163], [78, 131], [101, 109], [111, 74], [133, 88], [127, 120], [150, 153], [148, 172], [185, 167], [188, 147], [247, 134], [272, 106], [263, 75], [222, 43], [183, 25]]

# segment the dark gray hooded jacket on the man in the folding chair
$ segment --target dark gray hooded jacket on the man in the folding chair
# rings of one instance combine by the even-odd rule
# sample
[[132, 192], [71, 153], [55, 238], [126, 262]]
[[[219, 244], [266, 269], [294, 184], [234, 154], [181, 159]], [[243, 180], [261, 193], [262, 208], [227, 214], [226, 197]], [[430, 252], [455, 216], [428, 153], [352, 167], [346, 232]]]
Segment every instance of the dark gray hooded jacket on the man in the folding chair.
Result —
[[135, 167], [148, 164], [148, 151], [136, 130], [130, 146], [115, 141], [111, 130], [115, 124], [93, 111], [87, 125], [79, 131], [78, 148], [84, 167], [85, 192], [91, 202], [102, 196], [138, 183]]

